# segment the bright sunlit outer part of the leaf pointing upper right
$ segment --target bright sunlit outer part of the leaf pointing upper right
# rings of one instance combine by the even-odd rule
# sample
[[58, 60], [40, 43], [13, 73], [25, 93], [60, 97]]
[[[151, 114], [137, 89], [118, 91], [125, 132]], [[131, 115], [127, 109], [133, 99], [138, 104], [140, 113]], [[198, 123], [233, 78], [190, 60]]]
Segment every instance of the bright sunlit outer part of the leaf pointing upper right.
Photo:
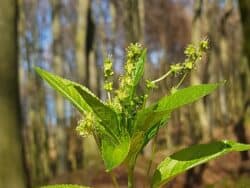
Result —
[[165, 96], [157, 103], [157, 111], [172, 111], [183, 105], [192, 103], [213, 92], [221, 84], [201, 84], [177, 90], [175, 93]]

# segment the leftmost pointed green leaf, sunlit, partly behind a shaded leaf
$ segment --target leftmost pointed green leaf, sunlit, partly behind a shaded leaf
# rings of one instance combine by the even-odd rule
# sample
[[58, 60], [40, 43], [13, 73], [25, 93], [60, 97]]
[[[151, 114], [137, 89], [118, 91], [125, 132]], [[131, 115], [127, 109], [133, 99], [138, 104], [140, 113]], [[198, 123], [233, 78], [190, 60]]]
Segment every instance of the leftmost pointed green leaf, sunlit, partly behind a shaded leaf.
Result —
[[87, 103], [73, 87], [74, 85], [79, 84], [70, 80], [63, 79], [39, 67], [36, 67], [35, 70], [44, 80], [48, 82], [48, 84], [52, 88], [62, 94], [66, 99], [68, 99], [80, 112], [90, 111]]

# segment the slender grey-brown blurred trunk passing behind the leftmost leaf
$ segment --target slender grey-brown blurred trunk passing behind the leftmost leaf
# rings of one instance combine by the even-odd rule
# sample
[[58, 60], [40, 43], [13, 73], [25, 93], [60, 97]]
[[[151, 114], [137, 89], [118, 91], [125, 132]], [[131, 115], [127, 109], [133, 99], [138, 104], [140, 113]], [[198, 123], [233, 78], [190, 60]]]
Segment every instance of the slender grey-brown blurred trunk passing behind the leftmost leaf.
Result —
[[[63, 37], [65, 36], [62, 33], [62, 26], [61, 26], [61, 13], [63, 3], [60, 0], [53, 0], [52, 2], [52, 12], [53, 12], [53, 68], [54, 71], [61, 76], [65, 76], [65, 63], [63, 58]], [[54, 135], [57, 150], [57, 163], [56, 169], [57, 174], [61, 174], [66, 171], [66, 137], [67, 133], [65, 130], [65, 117], [64, 117], [64, 109], [65, 109], [65, 100], [64, 98], [55, 93], [55, 100], [56, 100], [56, 118], [57, 118], [57, 125], [56, 127], [51, 127], [51, 129], [55, 129], [54, 131], [56, 134]]]

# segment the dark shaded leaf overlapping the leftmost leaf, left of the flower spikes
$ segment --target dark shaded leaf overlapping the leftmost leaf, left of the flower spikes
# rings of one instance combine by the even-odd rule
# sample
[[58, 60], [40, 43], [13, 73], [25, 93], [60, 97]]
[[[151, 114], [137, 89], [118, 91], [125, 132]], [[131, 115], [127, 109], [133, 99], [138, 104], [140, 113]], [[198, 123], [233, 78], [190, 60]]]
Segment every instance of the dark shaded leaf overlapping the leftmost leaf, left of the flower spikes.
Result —
[[103, 127], [112, 134], [119, 134], [119, 122], [116, 112], [108, 105], [104, 104], [87, 88], [80, 85], [75, 85], [74, 88], [78, 91], [81, 97], [91, 107], [97, 117], [100, 118]]

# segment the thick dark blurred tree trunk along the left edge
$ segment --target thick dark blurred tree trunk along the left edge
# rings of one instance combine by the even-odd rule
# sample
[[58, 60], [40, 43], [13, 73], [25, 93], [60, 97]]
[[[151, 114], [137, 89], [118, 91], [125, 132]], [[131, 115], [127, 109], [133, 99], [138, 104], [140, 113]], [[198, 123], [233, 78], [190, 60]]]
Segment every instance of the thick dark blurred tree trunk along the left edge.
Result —
[[24, 188], [15, 0], [0, 1], [0, 33], [0, 187]]

